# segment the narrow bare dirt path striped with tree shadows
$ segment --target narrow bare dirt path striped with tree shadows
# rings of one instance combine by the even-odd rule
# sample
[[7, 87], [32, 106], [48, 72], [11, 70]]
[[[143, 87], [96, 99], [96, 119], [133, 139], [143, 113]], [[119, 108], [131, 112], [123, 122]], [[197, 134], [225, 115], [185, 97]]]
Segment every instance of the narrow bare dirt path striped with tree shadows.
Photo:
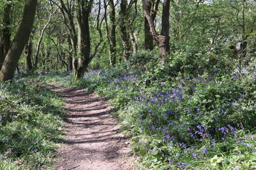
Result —
[[65, 99], [65, 141], [57, 169], [132, 169], [124, 135], [111, 107], [99, 96], [74, 87], [51, 86]]

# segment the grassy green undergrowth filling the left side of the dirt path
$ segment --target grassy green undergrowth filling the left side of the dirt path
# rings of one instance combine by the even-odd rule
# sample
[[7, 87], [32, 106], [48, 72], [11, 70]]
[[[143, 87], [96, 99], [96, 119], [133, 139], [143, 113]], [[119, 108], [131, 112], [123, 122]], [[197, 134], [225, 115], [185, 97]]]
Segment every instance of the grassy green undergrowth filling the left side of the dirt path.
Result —
[[0, 85], [0, 169], [47, 169], [61, 140], [61, 99], [28, 80]]

